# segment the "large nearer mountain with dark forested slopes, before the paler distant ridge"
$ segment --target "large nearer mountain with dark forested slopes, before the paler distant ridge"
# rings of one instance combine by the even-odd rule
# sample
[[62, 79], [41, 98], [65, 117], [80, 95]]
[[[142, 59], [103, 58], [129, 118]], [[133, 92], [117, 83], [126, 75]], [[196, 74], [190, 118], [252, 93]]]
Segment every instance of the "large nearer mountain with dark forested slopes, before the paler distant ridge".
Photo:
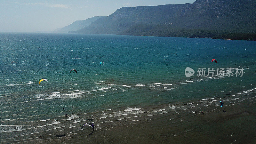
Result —
[[256, 40], [255, 14], [256, 0], [122, 7], [68, 33]]

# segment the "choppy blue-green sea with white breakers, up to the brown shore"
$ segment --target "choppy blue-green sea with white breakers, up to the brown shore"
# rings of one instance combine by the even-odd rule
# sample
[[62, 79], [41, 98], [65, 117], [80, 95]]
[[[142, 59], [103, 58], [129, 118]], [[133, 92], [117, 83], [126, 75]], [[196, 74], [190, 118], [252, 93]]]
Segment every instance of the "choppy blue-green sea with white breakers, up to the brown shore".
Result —
[[[104, 118], [113, 122], [131, 118], [126, 115], [153, 116], [181, 107], [188, 112], [217, 107], [218, 100], [232, 105], [256, 93], [255, 41], [2, 33], [0, 53], [3, 141], [13, 133], [19, 138], [20, 130], [24, 133], [35, 125], [67, 130], [59, 118], [65, 113], [73, 124], [68, 128], [75, 129], [88, 116], [99, 125]], [[11, 61], [17, 64], [11, 66]], [[244, 68], [244, 73], [242, 77], [186, 77], [186, 67], [195, 71]], [[70, 73], [72, 69], [77, 74]], [[39, 86], [42, 78], [48, 83]], [[31, 128], [27, 135], [52, 129]]]

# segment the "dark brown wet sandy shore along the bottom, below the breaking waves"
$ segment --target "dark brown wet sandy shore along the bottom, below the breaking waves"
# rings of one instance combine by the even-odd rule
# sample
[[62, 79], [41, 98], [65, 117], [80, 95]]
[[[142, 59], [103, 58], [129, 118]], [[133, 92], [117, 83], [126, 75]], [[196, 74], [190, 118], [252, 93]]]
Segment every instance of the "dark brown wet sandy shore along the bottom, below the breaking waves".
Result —
[[[187, 119], [173, 123], [170, 113], [156, 115], [149, 121], [120, 121], [119, 126], [96, 130], [88, 137], [88, 130], [64, 136], [49, 135], [47, 140], [28, 140], [29, 143], [255, 143], [256, 118], [254, 102], [240, 103], [223, 108], [215, 107], [212, 111], [187, 114]], [[212, 107], [213, 108], [213, 107]], [[222, 112], [225, 109], [227, 112]], [[184, 115], [183, 115], [184, 116]], [[182, 117], [183, 117], [182, 116]], [[97, 126], [95, 126], [97, 128]], [[51, 138], [50, 138], [51, 137]], [[49, 139], [50, 138], [50, 139]], [[23, 142], [23, 141], [15, 141]]]

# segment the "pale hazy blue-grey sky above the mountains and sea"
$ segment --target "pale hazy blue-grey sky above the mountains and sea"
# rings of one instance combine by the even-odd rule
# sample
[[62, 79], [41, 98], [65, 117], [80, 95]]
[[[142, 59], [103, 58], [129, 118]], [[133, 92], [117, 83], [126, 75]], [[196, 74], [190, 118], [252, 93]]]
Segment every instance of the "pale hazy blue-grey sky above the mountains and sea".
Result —
[[0, 32], [53, 31], [121, 7], [193, 3], [195, 0], [0, 0]]

